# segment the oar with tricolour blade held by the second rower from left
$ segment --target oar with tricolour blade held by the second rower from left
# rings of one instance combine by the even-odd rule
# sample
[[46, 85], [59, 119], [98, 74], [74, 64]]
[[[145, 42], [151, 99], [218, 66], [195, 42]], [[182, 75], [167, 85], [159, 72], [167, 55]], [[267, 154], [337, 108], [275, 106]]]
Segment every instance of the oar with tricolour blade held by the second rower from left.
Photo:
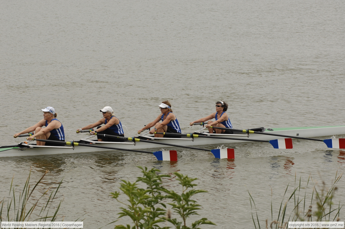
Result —
[[[115, 135], [105, 135], [105, 134], [98, 134], [100, 136], [104, 137], [110, 137], [110, 138], [119, 138], [119, 139], [126, 139], [129, 141], [141, 141], [141, 142], [147, 142], [147, 143], [152, 143], [152, 144], [159, 144], [159, 145], [166, 145], [166, 146], [175, 146], [175, 147], [181, 147], [181, 148], [188, 148], [188, 149], [196, 149], [196, 150], [203, 150], [203, 151], [208, 151], [213, 153], [215, 158], [229, 158], [229, 159], [234, 159], [235, 158], [235, 151], [234, 149], [203, 149], [203, 148], [197, 148], [197, 147], [192, 147], [192, 146], [180, 146], [180, 145], [175, 145], [175, 144], [170, 144], [170, 143], [163, 143], [163, 142], [156, 142], [156, 141], [148, 141], [148, 140], [142, 140], [139, 138], [127, 138], [127, 137], [121, 137], [121, 136], [115, 136]], [[220, 155], [220, 150], [226, 150], [226, 153], [223, 152], [224, 155]], [[221, 157], [223, 156], [223, 157]]]

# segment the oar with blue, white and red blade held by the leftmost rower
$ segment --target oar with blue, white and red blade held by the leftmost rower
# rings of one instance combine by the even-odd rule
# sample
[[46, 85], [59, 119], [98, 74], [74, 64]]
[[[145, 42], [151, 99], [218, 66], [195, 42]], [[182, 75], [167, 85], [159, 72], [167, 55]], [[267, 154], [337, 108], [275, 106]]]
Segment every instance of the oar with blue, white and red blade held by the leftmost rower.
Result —
[[33, 139], [33, 140], [52, 142], [52, 143], [60, 143], [60, 144], [66, 144], [66, 145], [70, 145], [70, 146], [87, 146], [87, 147], [95, 147], [95, 148], [103, 148], [103, 149], [124, 150], [124, 151], [139, 152], [139, 153], [150, 153], [150, 154], [155, 155], [157, 160], [159, 160], [159, 161], [177, 161], [177, 151], [176, 150], [149, 152], [149, 151], [135, 150], [135, 149], [120, 149], [120, 148], [108, 147], [108, 146], [94, 146], [92, 143], [83, 144], [83, 143], [74, 142], [74, 141], [53, 141], [53, 140], [46, 140], [46, 139]]

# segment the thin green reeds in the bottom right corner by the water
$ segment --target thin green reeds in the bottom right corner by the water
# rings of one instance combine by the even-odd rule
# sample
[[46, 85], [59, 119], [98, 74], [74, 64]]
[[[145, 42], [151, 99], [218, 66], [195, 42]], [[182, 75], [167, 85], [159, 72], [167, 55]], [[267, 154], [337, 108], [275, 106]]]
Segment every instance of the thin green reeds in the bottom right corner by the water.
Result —
[[[314, 183], [310, 175], [308, 177], [308, 181], [305, 187], [303, 187], [302, 185], [301, 178], [297, 179], [297, 177], [295, 176], [295, 183], [292, 193], [287, 196], [287, 199], [285, 198], [289, 191], [288, 184], [285, 189], [283, 199], [280, 202], [277, 215], [275, 214], [273, 202], [271, 199], [271, 223], [269, 224], [268, 219], [266, 219], [266, 229], [285, 229], [287, 228], [288, 221], [339, 221], [340, 210], [342, 209], [344, 204], [341, 204], [339, 201], [339, 203], [335, 205], [332, 200], [334, 199], [335, 191], [338, 189], [336, 187], [336, 184], [339, 182], [341, 178], [342, 175], [338, 175], [338, 173], [336, 173], [331, 187], [327, 188], [326, 183], [322, 182], [322, 187], [318, 188], [318, 182]], [[311, 185], [311, 183], [313, 183], [313, 185]], [[310, 189], [312, 189], [312, 194], [309, 199], [310, 195], [308, 195], [307, 192]], [[271, 193], [273, 198], [272, 189]], [[249, 201], [250, 207], [252, 209], [252, 220], [254, 223], [254, 227], [256, 229], [261, 229], [255, 202], [250, 193]], [[292, 201], [293, 206], [290, 207], [290, 202]], [[313, 210], [314, 206], [316, 207], [315, 210]], [[287, 210], [291, 208], [291, 212]], [[255, 214], [253, 214], [254, 209]], [[290, 213], [288, 213], [287, 211]]]

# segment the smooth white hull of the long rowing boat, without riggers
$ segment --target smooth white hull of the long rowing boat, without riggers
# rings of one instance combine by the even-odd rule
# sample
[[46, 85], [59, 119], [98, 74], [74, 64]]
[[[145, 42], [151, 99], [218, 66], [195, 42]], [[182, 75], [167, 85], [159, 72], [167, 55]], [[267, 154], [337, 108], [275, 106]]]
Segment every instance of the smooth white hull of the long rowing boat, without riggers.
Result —
[[[345, 126], [327, 126], [327, 127], [296, 127], [296, 128], [273, 128], [273, 131], [265, 130], [266, 133], [274, 133], [279, 135], [298, 136], [305, 138], [320, 137], [320, 136], [334, 136], [345, 135]], [[161, 143], [170, 143], [181, 146], [203, 146], [203, 145], [223, 145], [228, 143], [245, 142], [241, 139], [256, 139], [256, 140], [273, 140], [284, 137], [276, 137], [270, 135], [250, 134], [246, 136], [223, 136], [236, 138], [236, 140], [227, 139], [211, 139], [211, 138], [183, 138], [183, 139], [155, 139], [152, 141]], [[97, 144], [98, 145], [98, 144]], [[115, 147], [121, 149], [153, 149], [153, 148], [176, 148], [174, 146], [158, 145], [147, 142], [111, 142], [100, 143], [101, 146]], [[326, 145], [325, 145], [326, 147]], [[0, 157], [21, 157], [21, 156], [35, 156], [35, 155], [53, 155], [62, 153], [84, 153], [84, 152], [98, 152], [111, 151], [109, 149], [75, 146], [75, 147], [7, 147], [0, 148]]]

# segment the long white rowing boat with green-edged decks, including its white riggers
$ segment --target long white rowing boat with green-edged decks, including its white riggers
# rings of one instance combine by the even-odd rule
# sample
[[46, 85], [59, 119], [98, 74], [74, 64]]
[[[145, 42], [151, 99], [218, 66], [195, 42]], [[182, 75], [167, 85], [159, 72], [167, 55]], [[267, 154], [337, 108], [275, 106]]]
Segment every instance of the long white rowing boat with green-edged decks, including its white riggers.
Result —
[[[235, 139], [214, 139], [214, 138], [198, 138], [198, 137], [182, 137], [182, 138], [160, 138], [149, 136], [148, 133], [141, 133], [137, 138], [146, 139], [152, 142], [170, 143], [180, 146], [202, 146], [202, 145], [224, 145], [229, 143], [245, 142], [243, 139], [248, 140], [273, 140], [283, 139], [284, 137], [261, 135], [258, 133], [243, 133], [234, 132], [234, 134], [216, 134], [204, 132], [205, 128], [201, 128], [194, 133], [197, 135], [215, 136], [215, 137], [228, 137]], [[253, 129], [254, 130], [254, 129]], [[256, 129], [259, 130], [259, 129]], [[321, 136], [335, 136], [345, 135], [345, 126], [322, 126], [322, 127], [295, 127], [295, 128], [262, 128], [259, 132], [263, 133], [274, 133], [278, 135], [296, 136], [304, 138], [321, 137]], [[192, 135], [193, 136], [193, 135]], [[333, 139], [334, 140], [334, 139]], [[345, 142], [340, 141], [338, 145], [333, 148], [345, 147]], [[97, 141], [97, 137], [88, 136], [80, 139], [80, 143], [91, 143], [97, 146], [115, 147], [121, 149], [150, 149], [150, 148], [171, 148], [172, 146], [160, 146], [148, 142], [136, 142], [136, 141], [124, 141], [124, 142], [105, 142]], [[335, 144], [335, 143], [333, 143]], [[175, 147], [176, 148], [176, 147]], [[332, 147], [331, 147], [332, 148]], [[2, 146], [0, 147], [0, 157], [16, 157], [16, 156], [34, 156], [34, 155], [53, 155], [61, 153], [83, 153], [83, 152], [98, 152], [98, 151], [109, 151], [111, 149], [94, 148], [86, 146], [38, 146], [34, 144], [34, 141], [22, 142], [15, 146]]]

